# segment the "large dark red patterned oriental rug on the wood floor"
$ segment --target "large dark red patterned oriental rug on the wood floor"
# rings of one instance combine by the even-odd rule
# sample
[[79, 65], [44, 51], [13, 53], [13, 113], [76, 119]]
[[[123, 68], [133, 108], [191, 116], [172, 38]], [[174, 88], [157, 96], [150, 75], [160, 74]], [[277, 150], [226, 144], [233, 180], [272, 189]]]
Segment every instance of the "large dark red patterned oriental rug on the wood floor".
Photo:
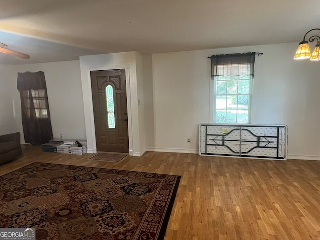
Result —
[[35, 162], [0, 176], [0, 228], [36, 239], [163, 239], [180, 176]]

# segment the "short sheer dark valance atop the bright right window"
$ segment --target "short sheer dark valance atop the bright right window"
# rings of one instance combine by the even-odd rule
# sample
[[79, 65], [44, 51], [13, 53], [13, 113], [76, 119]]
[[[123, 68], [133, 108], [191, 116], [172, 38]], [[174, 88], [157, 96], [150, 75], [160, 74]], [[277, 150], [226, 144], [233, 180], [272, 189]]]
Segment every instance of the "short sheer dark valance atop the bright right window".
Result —
[[233, 65], [233, 64], [247, 64], [250, 63], [250, 75], [254, 75], [254, 61], [255, 52], [249, 53], [236, 53], [226, 55], [213, 55], [211, 56], [211, 75], [216, 76], [216, 66], [218, 65]]

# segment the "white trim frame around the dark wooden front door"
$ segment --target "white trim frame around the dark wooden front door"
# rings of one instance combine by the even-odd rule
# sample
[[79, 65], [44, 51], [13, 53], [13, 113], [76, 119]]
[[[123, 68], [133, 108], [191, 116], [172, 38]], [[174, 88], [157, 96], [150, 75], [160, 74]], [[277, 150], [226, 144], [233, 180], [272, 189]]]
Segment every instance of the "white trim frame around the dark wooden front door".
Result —
[[92, 85], [91, 85], [91, 71], [103, 71], [103, 70], [119, 70], [125, 69], [125, 85], [126, 85], [126, 104], [128, 112], [128, 134], [129, 134], [129, 155], [133, 155], [133, 138], [132, 138], [132, 114], [131, 114], [131, 88], [130, 88], [130, 68], [129, 65], [115, 65], [115, 66], [100, 66], [90, 67], [87, 73], [88, 86], [89, 86], [89, 103], [90, 103], [90, 115], [91, 115], [91, 127], [92, 127], [92, 141], [93, 141], [93, 153], [97, 152], [96, 149], [96, 136], [95, 136], [95, 124], [93, 113], [93, 98], [92, 98]]

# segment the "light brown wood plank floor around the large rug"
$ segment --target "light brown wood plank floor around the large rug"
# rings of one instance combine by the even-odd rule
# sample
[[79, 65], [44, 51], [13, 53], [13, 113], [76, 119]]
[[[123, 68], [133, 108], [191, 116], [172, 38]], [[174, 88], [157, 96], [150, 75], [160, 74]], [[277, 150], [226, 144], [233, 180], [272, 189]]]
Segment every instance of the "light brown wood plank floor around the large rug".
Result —
[[165, 239], [320, 239], [320, 161], [146, 152], [119, 163], [23, 147], [0, 175], [32, 162], [181, 175]]

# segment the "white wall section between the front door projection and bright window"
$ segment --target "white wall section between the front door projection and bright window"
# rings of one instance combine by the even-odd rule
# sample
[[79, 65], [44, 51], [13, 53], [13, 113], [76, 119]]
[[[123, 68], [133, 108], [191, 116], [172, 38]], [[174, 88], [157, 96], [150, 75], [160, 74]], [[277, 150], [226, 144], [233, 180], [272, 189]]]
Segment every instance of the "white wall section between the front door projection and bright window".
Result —
[[197, 125], [209, 120], [207, 56], [206, 51], [152, 55], [155, 150], [196, 152]]

